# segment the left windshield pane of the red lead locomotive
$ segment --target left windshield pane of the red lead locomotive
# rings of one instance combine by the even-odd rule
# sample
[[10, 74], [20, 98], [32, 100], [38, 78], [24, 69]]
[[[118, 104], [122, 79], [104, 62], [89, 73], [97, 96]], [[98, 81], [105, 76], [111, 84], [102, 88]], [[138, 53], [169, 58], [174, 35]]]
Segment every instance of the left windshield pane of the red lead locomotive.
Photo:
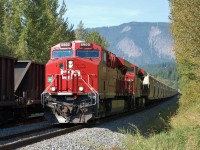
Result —
[[54, 50], [52, 52], [52, 58], [63, 58], [63, 57], [71, 57], [71, 56], [73, 56], [72, 49]]

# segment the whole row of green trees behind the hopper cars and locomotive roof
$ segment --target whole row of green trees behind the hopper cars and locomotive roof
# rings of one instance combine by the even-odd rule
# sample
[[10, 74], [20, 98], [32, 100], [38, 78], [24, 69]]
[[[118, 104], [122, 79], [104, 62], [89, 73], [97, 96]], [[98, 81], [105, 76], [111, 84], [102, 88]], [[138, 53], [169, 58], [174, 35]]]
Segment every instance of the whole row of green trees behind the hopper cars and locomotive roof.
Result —
[[50, 48], [59, 42], [85, 40], [106, 46], [98, 32], [80, 28], [82, 21], [74, 30], [64, 19], [66, 11], [64, 0], [60, 6], [58, 0], [0, 0], [0, 55], [47, 62]]

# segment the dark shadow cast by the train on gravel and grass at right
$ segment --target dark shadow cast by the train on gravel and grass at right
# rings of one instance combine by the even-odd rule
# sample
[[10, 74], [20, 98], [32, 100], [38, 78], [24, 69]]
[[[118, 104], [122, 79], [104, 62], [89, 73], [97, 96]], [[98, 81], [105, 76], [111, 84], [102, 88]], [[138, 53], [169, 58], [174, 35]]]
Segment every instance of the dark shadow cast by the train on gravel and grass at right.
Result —
[[155, 135], [171, 129], [170, 119], [177, 113], [179, 108], [178, 101], [179, 97], [175, 96], [169, 100], [163, 101], [153, 108], [135, 113], [125, 118], [110, 121], [99, 127], [107, 128], [112, 132], [122, 134], [139, 133], [145, 137], [151, 136], [152, 134]]

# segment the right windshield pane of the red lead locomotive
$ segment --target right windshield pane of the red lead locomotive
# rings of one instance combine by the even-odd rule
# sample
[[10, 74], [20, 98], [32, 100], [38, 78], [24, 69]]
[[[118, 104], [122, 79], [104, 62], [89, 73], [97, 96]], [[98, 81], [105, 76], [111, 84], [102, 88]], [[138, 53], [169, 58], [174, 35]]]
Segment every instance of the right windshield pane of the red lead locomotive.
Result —
[[81, 58], [98, 58], [99, 50], [82, 50], [79, 49], [76, 51], [76, 56]]

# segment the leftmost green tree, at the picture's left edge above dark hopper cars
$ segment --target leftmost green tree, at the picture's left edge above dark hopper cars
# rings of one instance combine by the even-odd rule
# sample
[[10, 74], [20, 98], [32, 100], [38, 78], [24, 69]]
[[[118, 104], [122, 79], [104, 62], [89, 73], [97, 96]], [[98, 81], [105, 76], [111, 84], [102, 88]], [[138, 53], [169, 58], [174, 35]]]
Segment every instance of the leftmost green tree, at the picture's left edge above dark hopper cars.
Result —
[[1, 37], [8, 47], [7, 54], [14, 57], [23, 56], [23, 52], [19, 53], [19, 37], [23, 26], [21, 24], [23, 7], [20, 0], [3, 1], [3, 20]]

